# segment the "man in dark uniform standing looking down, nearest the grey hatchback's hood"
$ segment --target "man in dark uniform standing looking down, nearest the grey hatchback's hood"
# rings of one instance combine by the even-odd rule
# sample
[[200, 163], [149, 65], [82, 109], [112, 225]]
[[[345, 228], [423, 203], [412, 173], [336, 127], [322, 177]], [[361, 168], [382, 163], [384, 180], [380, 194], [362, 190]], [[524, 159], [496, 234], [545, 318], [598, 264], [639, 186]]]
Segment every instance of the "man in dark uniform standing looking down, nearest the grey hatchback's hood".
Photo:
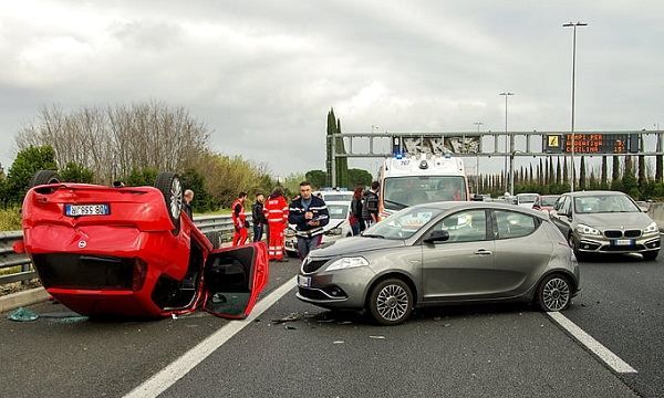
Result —
[[297, 226], [298, 252], [304, 259], [321, 244], [323, 227], [330, 222], [330, 214], [325, 201], [311, 195], [310, 182], [300, 182], [300, 195], [289, 206], [288, 221]]

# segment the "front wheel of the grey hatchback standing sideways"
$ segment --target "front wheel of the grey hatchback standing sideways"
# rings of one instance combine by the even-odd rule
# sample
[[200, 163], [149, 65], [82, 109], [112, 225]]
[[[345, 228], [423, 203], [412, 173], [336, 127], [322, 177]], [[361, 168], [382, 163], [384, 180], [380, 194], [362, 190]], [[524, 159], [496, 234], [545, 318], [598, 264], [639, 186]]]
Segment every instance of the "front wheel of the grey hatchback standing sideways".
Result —
[[413, 311], [411, 287], [397, 279], [381, 281], [371, 291], [369, 311], [381, 325], [397, 325], [406, 321]]

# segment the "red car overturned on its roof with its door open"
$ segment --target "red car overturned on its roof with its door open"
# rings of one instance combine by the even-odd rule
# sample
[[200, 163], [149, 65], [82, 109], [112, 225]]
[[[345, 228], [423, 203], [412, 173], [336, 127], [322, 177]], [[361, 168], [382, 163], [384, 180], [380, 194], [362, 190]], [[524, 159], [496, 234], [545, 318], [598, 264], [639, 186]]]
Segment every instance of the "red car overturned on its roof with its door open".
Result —
[[266, 244], [214, 248], [181, 211], [173, 172], [160, 172], [154, 187], [107, 187], [42, 170], [31, 186], [14, 250], [80, 314], [160, 317], [201, 307], [243, 318], [267, 283]]

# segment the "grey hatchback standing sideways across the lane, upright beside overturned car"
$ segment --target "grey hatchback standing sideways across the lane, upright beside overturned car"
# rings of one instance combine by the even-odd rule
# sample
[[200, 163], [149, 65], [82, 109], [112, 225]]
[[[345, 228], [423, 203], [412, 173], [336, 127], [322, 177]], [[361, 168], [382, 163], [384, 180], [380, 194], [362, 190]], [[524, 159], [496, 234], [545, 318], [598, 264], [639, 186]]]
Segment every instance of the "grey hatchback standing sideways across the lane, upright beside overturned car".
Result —
[[574, 254], [544, 213], [437, 202], [312, 251], [297, 296], [325, 308], [366, 310], [377, 323], [394, 325], [432, 304], [535, 301], [543, 311], [561, 311], [578, 290]]

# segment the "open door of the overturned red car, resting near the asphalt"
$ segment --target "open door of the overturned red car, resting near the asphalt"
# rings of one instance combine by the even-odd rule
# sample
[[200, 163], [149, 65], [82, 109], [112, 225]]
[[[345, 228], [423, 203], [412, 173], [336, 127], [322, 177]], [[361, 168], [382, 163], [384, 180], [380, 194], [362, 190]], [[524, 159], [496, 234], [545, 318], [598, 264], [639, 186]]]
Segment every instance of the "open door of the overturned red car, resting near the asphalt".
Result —
[[205, 263], [205, 311], [235, 320], [246, 318], [268, 282], [264, 242], [216, 249]]

